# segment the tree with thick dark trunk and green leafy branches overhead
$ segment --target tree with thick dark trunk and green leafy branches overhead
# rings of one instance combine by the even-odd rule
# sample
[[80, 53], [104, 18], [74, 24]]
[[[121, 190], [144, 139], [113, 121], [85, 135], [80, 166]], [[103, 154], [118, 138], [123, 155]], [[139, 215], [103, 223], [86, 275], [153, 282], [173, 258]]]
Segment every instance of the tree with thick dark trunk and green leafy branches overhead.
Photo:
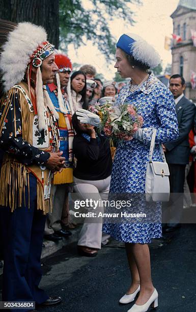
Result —
[[142, 0], [0, 0], [0, 18], [42, 25], [56, 48], [60, 31], [61, 48], [65, 51], [69, 43], [78, 49], [86, 40], [92, 40], [110, 61], [116, 38], [111, 35], [108, 21], [117, 17], [132, 25], [133, 12], [128, 4], [141, 3]]

